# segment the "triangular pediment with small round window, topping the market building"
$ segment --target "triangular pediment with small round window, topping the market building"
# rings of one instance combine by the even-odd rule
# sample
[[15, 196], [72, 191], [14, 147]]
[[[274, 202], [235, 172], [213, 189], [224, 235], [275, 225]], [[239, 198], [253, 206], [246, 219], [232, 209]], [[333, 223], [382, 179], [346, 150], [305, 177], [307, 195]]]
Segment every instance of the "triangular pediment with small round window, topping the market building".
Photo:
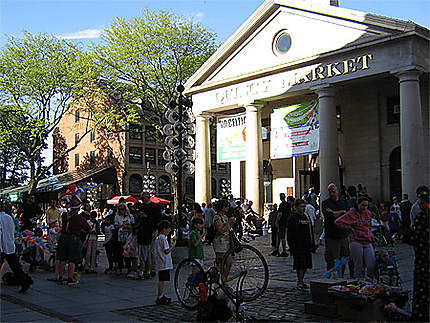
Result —
[[268, 0], [188, 80], [186, 88], [193, 92], [300, 65], [330, 52], [399, 34], [410, 25], [333, 6], [316, 7], [306, 1]]

